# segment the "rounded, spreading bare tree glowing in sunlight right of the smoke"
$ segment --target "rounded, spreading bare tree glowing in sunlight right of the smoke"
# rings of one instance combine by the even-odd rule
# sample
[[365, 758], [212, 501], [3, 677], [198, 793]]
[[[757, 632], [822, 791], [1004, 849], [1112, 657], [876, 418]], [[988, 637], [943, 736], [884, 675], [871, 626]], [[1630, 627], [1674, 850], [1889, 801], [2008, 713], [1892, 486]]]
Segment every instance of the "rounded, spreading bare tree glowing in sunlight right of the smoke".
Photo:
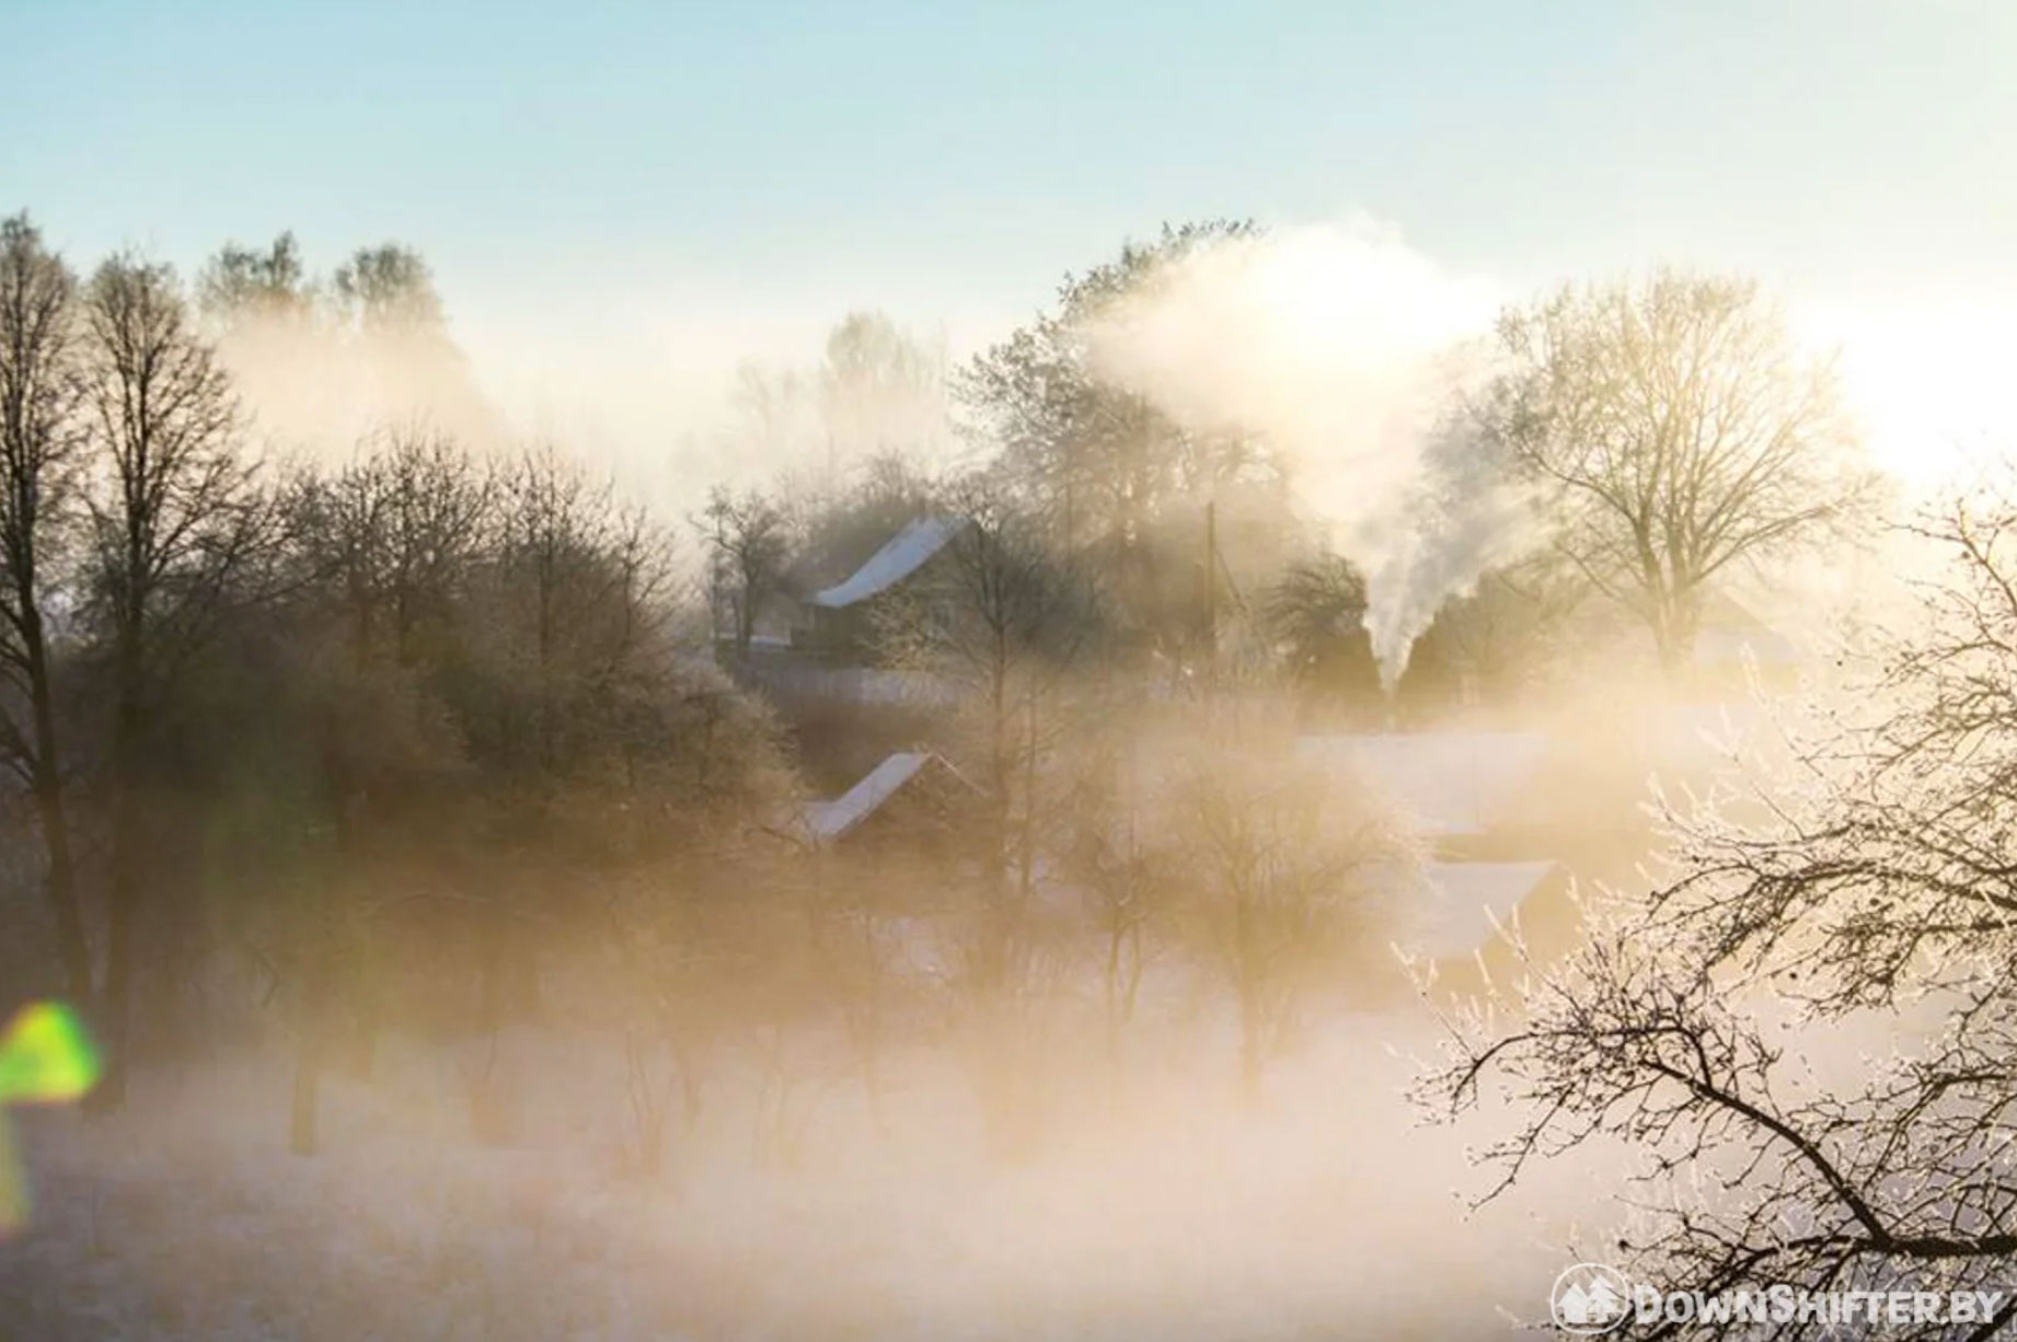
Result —
[[1495, 441], [1555, 494], [1557, 544], [1668, 669], [1694, 653], [1712, 578], [1872, 498], [1831, 365], [1795, 351], [1751, 280], [1563, 288], [1499, 337], [1515, 367], [1485, 399]]

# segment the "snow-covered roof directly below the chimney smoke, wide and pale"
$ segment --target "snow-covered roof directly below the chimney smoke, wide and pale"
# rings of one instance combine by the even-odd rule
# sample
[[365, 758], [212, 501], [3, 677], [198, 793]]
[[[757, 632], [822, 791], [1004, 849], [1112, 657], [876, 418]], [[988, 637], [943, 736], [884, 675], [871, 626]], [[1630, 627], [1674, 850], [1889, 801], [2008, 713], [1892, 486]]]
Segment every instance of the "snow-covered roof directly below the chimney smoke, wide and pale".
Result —
[[1547, 737], [1529, 731], [1305, 735], [1297, 750], [1380, 788], [1432, 838], [1489, 832], [1541, 772]]

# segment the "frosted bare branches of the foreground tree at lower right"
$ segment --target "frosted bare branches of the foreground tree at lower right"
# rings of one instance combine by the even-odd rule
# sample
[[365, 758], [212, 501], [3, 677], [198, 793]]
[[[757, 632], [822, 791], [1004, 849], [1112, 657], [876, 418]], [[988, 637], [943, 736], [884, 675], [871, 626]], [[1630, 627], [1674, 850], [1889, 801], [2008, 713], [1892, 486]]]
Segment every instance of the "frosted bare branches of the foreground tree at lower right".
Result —
[[[2017, 1253], [2017, 508], [1956, 508], [1928, 627], [1721, 806], [1670, 816], [1674, 879], [1601, 911], [1513, 1012], [1454, 1022], [1442, 1112], [1507, 1092], [1487, 1197], [1624, 1143], [1618, 1241], [1660, 1290], [2003, 1290]], [[1741, 818], [1733, 818], [1741, 816]], [[1870, 1056], [1872, 1040], [1882, 1052]], [[2017, 1298], [1965, 1336], [2001, 1336]], [[1896, 1322], [1896, 1320], [1894, 1320]], [[1632, 1326], [1628, 1326], [1632, 1328]], [[1819, 1338], [1646, 1324], [1638, 1336]], [[1920, 1320], [1906, 1338], [1963, 1336]]]

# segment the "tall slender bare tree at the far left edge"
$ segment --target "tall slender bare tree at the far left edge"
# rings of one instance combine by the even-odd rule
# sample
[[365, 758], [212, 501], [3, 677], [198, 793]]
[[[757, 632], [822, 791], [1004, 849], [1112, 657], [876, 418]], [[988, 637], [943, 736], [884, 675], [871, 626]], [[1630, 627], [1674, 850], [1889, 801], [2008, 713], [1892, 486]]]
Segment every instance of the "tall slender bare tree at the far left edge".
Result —
[[81, 381], [69, 268], [28, 216], [0, 222], [0, 764], [34, 796], [48, 911], [69, 995], [91, 999], [44, 619], [75, 520]]

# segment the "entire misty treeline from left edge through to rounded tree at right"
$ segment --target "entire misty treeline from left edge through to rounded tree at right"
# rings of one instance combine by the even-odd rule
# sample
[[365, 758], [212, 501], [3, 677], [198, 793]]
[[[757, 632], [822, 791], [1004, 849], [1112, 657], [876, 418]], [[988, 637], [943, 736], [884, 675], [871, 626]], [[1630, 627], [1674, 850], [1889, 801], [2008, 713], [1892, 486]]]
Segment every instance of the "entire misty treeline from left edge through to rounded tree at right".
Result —
[[[958, 369], [853, 316], [815, 371], [742, 379], [750, 451], [807, 439], [813, 469], [668, 528], [504, 439], [405, 248], [317, 280], [290, 238], [230, 246], [190, 292], [133, 256], [77, 276], [8, 220], [0, 762], [32, 854], [10, 885], [40, 909], [10, 913], [32, 927], [10, 943], [24, 991], [103, 1034], [99, 1102], [149, 1054], [284, 1026], [311, 1151], [319, 1080], [367, 1074], [389, 1026], [496, 1040], [605, 965], [569, 1010], [623, 1042], [639, 1163], [724, 1054], [764, 1074], [758, 1138], [785, 1151], [791, 1058], [839, 1058], [879, 1106], [896, 1042], [952, 1040], [1019, 1143], [1061, 1022], [1095, 1022], [1117, 1060], [1160, 955], [1230, 1001], [1257, 1086], [1315, 999], [1368, 977], [1345, 965], [1386, 945], [1418, 860], [1291, 750], [1299, 713], [1390, 711], [1366, 574], [1277, 445], [1111, 385], [1083, 330], [1259, 238], [1130, 246]], [[1555, 524], [1442, 609], [1402, 705], [1458, 681], [1515, 697], [1591, 602], [1680, 665], [1716, 574], [1852, 512], [1827, 383], [1747, 284], [1565, 290], [1501, 341], [1462, 443]], [[280, 421], [347, 425], [359, 369], [371, 405], [411, 413], [379, 413], [339, 465], [274, 451], [276, 387]], [[930, 746], [958, 782], [835, 852], [807, 826], [805, 735], [722, 665], [740, 673], [773, 602], [920, 516], [958, 528], [859, 651], [952, 689]], [[510, 1086], [480, 1058], [470, 1120], [502, 1138]]]

